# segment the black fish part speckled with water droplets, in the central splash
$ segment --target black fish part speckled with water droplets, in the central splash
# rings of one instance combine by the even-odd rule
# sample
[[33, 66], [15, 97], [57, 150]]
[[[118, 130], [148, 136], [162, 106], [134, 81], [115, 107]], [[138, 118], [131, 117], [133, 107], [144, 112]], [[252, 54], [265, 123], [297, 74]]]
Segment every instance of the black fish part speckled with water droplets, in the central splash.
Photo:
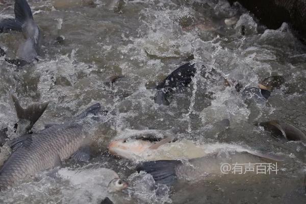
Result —
[[156, 87], [159, 90], [154, 96], [155, 103], [165, 106], [170, 105], [170, 101], [167, 98], [168, 95], [176, 89], [188, 86], [195, 72], [195, 65], [190, 63], [186, 63], [172, 71], [168, 77]]

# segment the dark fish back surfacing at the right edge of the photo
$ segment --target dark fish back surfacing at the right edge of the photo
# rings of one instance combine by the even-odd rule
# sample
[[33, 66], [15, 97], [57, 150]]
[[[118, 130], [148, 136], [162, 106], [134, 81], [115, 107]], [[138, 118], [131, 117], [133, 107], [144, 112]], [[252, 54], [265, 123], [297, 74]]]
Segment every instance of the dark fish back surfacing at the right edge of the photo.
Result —
[[306, 135], [294, 125], [288, 122], [266, 121], [259, 124], [265, 130], [272, 132], [276, 136], [284, 137], [287, 140], [301, 140], [306, 142]]

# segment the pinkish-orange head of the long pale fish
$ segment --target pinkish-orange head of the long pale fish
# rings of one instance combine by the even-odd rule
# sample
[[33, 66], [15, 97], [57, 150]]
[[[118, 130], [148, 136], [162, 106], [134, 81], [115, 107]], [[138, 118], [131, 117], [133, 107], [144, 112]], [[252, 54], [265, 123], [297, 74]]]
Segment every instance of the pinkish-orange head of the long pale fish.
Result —
[[136, 139], [121, 139], [111, 142], [108, 149], [112, 155], [125, 159], [133, 159], [152, 145], [149, 141]]

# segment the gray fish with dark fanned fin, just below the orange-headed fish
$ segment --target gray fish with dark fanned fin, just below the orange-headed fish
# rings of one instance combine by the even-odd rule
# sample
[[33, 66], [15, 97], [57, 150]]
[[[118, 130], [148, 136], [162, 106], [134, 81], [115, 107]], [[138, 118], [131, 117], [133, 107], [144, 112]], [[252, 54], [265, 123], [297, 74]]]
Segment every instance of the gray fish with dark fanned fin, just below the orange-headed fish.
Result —
[[[269, 159], [268, 161], [270, 162]], [[279, 162], [283, 160], [273, 159], [272, 161]], [[223, 175], [220, 170], [222, 164], [256, 164], [264, 162], [267, 162], [267, 158], [252, 155], [248, 152], [222, 152], [221, 154], [220, 152], [215, 152], [205, 157], [184, 162], [180, 160], [144, 162], [137, 167], [137, 170], [151, 174], [157, 183], [171, 186], [177, 179], [183, 181], [199, 181], [209, 179], [210, 176]], [[245, 167], [243, 167], [242, 171], [244, 170]], [[225, 175], [231, 176], [231, 174]]]

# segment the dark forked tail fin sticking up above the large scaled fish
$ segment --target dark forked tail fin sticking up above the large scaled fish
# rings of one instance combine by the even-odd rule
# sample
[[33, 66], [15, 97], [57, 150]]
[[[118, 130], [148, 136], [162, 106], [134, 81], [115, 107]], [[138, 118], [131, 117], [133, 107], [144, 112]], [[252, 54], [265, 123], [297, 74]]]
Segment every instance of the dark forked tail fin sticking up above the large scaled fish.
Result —
[[[13, 103], [15, 106], [15, 110], [17, 113], [17, 117], [19, 119], [19, 121], [23, 120], [23, 121], [28, 121], [29, 124], [27, 124], [27, 126], [22, 127], [22, 125], [19, 125], [18, 122], [18, 127], [17, 127], [17, 131], [16, 133], [26, 133], [29, 130], [31, 130], [32, 126], [35, 124], [35, 122], [40, 118], [40, 116], [43, 114], [43, 112], [45, 111], [45, 109], [47, 108], [49, 101], [45, 102], [45, 103], [41, 103], [41, 104], [33, 104], [31, 106], [29, 106], [26, 109], [23, 109], [20, 106], [20, 103], [18, 101], [18, 98], [16, 96], [14, 96], [12, 94], [12, 99], [13, 99]], [[22, 129], [25, 130], [22, 130]]]

